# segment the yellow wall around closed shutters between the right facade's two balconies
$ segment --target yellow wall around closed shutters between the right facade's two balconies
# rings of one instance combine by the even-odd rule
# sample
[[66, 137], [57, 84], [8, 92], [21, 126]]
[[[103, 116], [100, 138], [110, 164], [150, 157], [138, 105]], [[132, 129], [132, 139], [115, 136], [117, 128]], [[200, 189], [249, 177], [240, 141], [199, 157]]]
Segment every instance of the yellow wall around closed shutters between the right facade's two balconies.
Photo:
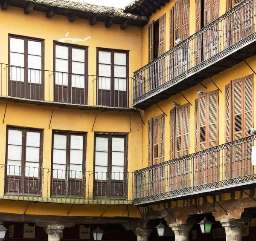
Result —
[[[247, 60], [249, 65], [256, 69], [256, 57], [252, 57]], [[221, 89], [222, 93], [219, 92], [219, 144], [225, 143], [225, 86], [230, 83], [231, 80], [236, 80], [238, 78], [247, 76], [252, 74], [252, 70], [244, 63], [239, 63], [236, 66], [233, 66], [230, 69], [221, 72], [218, 75], [212, 77], [212, 80], [216, 83], [216, 85]], [[203, 82], [204, 86], [207, 87], [205, 89], [203, 86], [198, 84], [186, 91], [183, 91], [183, 95], [192, 103], [192, 106], [189, 108], [189, 153], [195, 152], [195, 100], [198, 99], [197, 90], [202, 90], [204, 93], [216, 90], [216, 86], [209, 80], [205, 79]], [[254, 75], [254, 106], [256, 106], [256, 76]], [[172, 102], [177, 102], [180, 106], [186, 104], [187, 101], [181, 94], [177, 94], [172, 96], [171, 98], [164, 100], [158, 105], [163, 109], [163, 111], [167, 114], [165, 117], [165, 161], [170, 160], [170, 110], [173, 108]], [[143, 112], [143, 120], [145, 121], [145, 126], [143, 126], [143, 166], [146, 167], [148, 165], [148, 125], [147, 120], [151, 117], [155, 117], [161, 115], [163, 112], [156, 106], [151, 106]], [[254, 111], [254, 123], [256, 123], [256, 112]]]

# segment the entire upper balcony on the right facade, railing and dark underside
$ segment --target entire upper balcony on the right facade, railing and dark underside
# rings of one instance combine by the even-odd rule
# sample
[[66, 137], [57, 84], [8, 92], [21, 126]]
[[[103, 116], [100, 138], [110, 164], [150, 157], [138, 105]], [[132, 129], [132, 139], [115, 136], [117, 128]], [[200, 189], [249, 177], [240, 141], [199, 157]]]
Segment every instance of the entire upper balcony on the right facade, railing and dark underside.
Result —
[[134, 72], [133, 106], [145, 110], [256, 55], [256, 1], [244, 0]]

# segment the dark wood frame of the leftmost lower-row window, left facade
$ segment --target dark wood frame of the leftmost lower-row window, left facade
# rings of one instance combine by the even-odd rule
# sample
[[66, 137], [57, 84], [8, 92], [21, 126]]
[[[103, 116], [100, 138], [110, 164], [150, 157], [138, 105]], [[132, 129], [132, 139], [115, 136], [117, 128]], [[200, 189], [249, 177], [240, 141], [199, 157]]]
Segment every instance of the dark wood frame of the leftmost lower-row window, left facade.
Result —
[[[21, 146], [21, 175], [10, 175], [10, 178], [7, 178], [7, 166], [8, 166], [8, 141], [9, 141], [9, 130], [22, 131], [22, 146]], [[38, 178], [35, 177], [26, 177], [26, 134], [27, 132], [36, 132], [40, 133], [40, 145], [39, 145], [39, 170]], [[5, 193], [17, 193], [20, 194], [29, 194], [29, 195], [41, 195], [41, 178], [43, 175], [42, 164], [43, 164], [43, 140], [44, 132], [42, 129], [27, 128], [27, 127], [18, 127], [18, 126], [7, 126], [6, 128], [6, 181], [5, 181]], [[16, 182], [16, 183], [15, 183]], [[13, 186], [12, 186], [13, 185]], [[11, 190], [10, 190], [11, 186]], [[17, 190], [18, 187], [18, 190]], [[27, 188], [26, 188], [27, 187]], [[16, 191], [15, 191], [16, 188]], [[31, 188], [31, 189], [29, 189]]]

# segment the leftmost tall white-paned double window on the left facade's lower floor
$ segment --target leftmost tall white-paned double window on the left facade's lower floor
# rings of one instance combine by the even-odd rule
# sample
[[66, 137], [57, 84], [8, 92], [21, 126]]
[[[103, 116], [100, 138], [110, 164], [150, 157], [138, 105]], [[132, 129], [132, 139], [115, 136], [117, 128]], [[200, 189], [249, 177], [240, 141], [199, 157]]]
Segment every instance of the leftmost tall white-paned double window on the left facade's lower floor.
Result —
[[39, 194], [42, 131], [7, 127], [6, 192]]

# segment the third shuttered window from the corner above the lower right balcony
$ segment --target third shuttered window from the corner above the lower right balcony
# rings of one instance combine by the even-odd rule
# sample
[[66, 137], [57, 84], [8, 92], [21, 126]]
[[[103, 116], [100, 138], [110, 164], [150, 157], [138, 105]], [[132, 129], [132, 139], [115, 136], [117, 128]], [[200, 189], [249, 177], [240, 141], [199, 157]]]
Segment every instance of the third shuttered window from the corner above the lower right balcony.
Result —
[[218, 146], [218, 90], [195, 100], [195, 152]]

